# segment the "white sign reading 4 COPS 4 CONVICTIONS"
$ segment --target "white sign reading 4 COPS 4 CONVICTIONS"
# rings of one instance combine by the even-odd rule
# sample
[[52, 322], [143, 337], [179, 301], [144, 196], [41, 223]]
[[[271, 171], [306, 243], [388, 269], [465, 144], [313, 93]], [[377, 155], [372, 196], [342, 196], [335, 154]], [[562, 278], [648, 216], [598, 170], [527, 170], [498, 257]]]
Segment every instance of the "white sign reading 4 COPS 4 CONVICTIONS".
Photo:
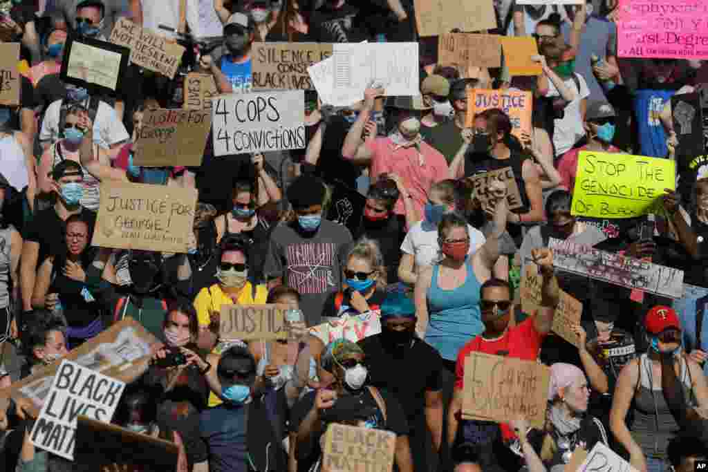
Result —
[[304, 100], [302, 90], [213, 98], [214, 155], [304, 149]]

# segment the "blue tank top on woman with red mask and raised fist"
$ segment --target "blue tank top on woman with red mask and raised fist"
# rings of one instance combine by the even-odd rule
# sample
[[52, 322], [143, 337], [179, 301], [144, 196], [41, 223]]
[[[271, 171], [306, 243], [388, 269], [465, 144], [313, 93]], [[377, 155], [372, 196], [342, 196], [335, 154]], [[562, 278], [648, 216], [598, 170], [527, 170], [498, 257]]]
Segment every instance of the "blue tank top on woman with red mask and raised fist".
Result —
[[464, 266], [467, 276], [456, 289], [438, 287], [440, 265], [433, 266], [433, 279], [428, 289], [428, 330], [426, 343], [435, 347], [443, 359], [457, 360], [457, 352], [484, 331], [479, 311], [481, 284], [474, 275], [469, 257]]

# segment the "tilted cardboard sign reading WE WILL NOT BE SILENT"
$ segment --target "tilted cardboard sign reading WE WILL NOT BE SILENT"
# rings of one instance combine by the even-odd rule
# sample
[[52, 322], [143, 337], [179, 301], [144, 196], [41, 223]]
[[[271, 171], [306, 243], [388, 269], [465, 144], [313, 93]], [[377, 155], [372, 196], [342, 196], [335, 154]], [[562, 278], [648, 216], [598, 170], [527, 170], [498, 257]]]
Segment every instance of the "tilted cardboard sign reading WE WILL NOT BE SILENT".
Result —
[[118, 18], [110, 42], [130, 48], [130, 62], [174, 79], [185, 47], [126, 18]]

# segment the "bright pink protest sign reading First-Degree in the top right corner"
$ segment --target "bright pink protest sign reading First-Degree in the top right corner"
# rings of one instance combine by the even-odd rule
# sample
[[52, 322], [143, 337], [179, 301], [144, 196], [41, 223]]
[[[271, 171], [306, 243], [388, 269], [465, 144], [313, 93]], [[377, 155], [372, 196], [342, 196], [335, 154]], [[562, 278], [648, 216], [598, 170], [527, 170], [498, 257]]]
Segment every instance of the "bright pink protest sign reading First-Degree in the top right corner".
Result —
[[708, 59], [705, 0], [619, 0], [617, 56]]

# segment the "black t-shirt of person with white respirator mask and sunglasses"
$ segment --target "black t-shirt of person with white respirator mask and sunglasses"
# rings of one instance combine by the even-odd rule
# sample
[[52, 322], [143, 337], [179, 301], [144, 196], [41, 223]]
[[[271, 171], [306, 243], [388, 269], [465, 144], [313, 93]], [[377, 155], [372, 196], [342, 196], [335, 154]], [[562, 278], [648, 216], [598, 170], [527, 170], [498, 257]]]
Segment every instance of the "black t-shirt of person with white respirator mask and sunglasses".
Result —
[[[358, 408], [352, 410], [353, 412], [355, 412], [352, 415], [353, 420], [358, 419], [354, 417], [360, 415], [362, 411], [367, 411], [367, 413], [371, 413], [369, 416], [367, 416], [365, 420], [366, 427], [372, 427], [377, 430], [391, 431], [396, 434], [396, 436], [407, 436], [409, 432], [408, 422], [406, 421], [406, 416], [403, 413], [401, 404], [396, 400], [396, 398], [394, 398], [394, 396], [391, 395], [391, 393], [387, 393], [383, 390], [379, 390], [379, 393], [381, 393], [384, 405], [386, 405], [386, 418], [384, 418], [383, 412], [379, 409], [378, 403], [376, 402], [376, 400], [370, 393], [369, 388], [367, 387], [363, 389], [362, 393], [358, 398], [352, 398], [352, 396], [348, 395], [339, 396], [336, 402], [345, 401], [347, 403], [357, 403]], [[312, 410], [312, 407], [314, 406], [315, 395], [316, 391], [309, 392], [304, 397], [300, 398], [297, 403], [295, 403], [295, 406], [292, 408], [292, 411], [290, 413], [290, 430], [292, 432], [297, 432], [300, 427], [300, 424], [302, 423], [302, 420], [304, 420], [310, 410]], [[337, 408], [337, 403], [335, 403], [334, 407], [331, 408], [331, 410], [333, 410], [334, 408]], [[336, 418], [336, 421], [333, 422], [339, 422], [342, 420], [346, 419]], [[322, 434], [324, 434], [324, 431], [326, 431], [326, 427], [322, 428], [321, 431], [323, 431]], [[314, 464], [317, 459], [319, 459], [319, 456], [321, 456], [322, 454], [322, 451], [319, 447], [321, 434], [312, 439], [312, 453], [306, 460], [298, 461], [297, 468], [299, 471], [309, 470], [312, 464]]]

